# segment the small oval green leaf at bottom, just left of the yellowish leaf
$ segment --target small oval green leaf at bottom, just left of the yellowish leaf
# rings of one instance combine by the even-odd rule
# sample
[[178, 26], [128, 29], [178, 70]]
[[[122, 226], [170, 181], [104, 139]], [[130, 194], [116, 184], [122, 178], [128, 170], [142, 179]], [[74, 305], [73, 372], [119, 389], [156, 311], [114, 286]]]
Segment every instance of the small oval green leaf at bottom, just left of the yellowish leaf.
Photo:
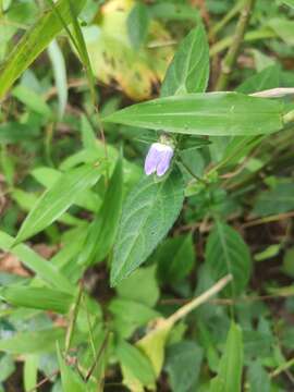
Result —
[[152, 366], [137, 347], [121, 340], [115, 352], [121, 366], [127, 368], [144, 385], [155, 383]]

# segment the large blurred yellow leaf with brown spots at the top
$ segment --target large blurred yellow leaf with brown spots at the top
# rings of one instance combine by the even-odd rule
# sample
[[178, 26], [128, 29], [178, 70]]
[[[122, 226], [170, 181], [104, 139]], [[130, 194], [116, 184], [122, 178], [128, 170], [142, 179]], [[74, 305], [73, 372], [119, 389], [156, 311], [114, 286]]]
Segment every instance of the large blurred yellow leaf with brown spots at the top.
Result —
[[126, 21], [133, 0], [112, 0], [101, 8], [94, 25], [83, 28], [95, 75], [115, 84], [134, 100], [147, 99], [162, 81], [173, 56], [170, 34], [151, 21], [145, 46], [135, 50]]

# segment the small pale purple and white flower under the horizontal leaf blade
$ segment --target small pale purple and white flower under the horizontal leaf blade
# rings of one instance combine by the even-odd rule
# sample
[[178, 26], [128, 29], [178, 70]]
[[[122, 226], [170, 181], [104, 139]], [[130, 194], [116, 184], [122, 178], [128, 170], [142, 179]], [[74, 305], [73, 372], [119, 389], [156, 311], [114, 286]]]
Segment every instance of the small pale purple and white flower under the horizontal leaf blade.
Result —
[[154, 143], [145, 159], [145, 173], [161, 176], [168, 171], [173, 156], [173, 148], [162, 143]]

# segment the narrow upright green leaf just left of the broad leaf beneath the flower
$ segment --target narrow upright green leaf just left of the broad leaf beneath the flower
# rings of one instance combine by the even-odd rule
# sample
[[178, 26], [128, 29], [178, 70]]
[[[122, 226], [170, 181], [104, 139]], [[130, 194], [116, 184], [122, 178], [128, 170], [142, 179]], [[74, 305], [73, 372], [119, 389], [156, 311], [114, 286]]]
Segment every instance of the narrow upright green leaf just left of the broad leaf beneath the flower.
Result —
[[103, 204], [88, 228], [88, 234], [78, 264], [90, 266], [103, 260], [113, 246], [122, 209], [123, 166], [118, 159]]

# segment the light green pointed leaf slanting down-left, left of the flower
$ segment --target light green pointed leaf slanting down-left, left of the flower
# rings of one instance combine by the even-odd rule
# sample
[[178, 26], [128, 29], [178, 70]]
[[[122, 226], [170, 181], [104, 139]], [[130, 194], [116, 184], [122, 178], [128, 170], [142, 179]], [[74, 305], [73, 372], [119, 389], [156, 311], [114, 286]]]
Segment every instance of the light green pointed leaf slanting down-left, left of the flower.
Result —
[[87, 164], [61, 175], [30, 210], [17, 233], [15, 243], [25, 241], [53, 223], [85, 189], [99, 180], [100, 175], [101, 172], [97, 167]]

